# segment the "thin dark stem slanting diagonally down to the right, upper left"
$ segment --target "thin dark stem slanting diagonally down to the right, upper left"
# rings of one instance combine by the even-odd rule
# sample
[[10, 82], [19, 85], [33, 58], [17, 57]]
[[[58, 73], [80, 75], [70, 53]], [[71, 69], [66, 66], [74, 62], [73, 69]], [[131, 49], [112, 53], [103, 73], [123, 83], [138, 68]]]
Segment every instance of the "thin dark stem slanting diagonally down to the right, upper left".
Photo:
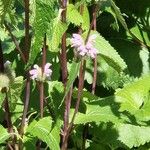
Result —
[[9, 35], [11, 36], [12, 41], [14, 42], [14, 44], [15, 44], [15, 46], [16, 46], [16, 50], [17, 50], [18, 53], [20, 54], [20, 57], [22, 58], [23, 62], [26, 63], [25, 55], [24, 55], [24, 53], [22, 53], [21, 48], [20, 48], [20, 46], [19, 46], [19, 44], [18, 44], [18, 41], [17, 41], [16, 37], [13, 35], [13, 33], [12, 33], [10, 27], [7, 25], [6, 22], [4, 22], [4, 25], [5, 25], [6, 29], [8, 30]]

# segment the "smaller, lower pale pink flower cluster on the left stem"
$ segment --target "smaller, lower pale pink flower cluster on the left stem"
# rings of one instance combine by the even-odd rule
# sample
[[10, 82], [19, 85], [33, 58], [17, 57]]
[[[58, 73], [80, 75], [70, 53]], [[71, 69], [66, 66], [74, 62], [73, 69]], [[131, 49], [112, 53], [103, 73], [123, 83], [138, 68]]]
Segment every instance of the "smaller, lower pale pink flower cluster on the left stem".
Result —
[[47, 63], [44, 66], [44, 71], [42, 73], [42, 68], [39, 67], [38, 65], [34, 65], [32, 70], [29, 71], [30, 75], [31, 75], [31, 79], [33, 80], [37, 80], [37, 81], [45, 81], [50, 80], [51, 79], [51, 75], [52, 75], [52, 70], [50, 69], [51, 64]]

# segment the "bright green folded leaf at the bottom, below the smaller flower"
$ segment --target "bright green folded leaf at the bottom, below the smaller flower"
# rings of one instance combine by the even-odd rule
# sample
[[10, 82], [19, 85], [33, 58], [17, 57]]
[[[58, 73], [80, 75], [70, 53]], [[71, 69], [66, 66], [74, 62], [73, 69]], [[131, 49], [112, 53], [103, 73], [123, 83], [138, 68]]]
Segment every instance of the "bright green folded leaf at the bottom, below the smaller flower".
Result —
[[[34, 137], [38, 137], [43, 142], [45, 142], [48, 147], [52, 150], [60, 150], [58, 136], [56, 136], [56, 131], [53, 131], [52, 127], [52, 119], [50, 117], [44, 117], [39, 121], [34, 121], [27, 128], [28, 134], [31, 134]], [[55, 128], [56, 130], [57, 128]], [[58, 134], [60, 132], [60, 128], [58, 128]]]

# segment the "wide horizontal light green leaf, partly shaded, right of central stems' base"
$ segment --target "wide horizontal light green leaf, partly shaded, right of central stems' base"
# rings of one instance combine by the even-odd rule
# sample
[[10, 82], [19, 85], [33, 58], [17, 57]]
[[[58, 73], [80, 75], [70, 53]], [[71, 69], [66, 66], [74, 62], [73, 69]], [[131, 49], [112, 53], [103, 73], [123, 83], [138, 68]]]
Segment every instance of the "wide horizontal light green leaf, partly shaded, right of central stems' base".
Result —
[[117, 105], [113, 105], [113, 97], [98, 99], [91, 103], [86, 103], [86, 113], [77, 113], [75, 124], [86, 124], [90, 122], [113, 122], [119, 123]]

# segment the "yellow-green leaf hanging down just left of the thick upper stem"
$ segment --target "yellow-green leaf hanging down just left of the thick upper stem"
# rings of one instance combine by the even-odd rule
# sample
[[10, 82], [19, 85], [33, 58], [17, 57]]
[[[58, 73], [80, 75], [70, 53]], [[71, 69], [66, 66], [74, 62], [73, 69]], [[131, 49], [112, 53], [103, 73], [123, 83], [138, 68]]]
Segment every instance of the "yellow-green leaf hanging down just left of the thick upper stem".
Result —
[[66, 30], [67, 30], [67, 24], [63, 23], [62, 21], [58, 20], [58, 18], [56, 18], [53, 22], [52, 39], [49, 43], [50, 51], [52, 52], [59, 51], [58, 47], [61, 42], [61, 38]]

